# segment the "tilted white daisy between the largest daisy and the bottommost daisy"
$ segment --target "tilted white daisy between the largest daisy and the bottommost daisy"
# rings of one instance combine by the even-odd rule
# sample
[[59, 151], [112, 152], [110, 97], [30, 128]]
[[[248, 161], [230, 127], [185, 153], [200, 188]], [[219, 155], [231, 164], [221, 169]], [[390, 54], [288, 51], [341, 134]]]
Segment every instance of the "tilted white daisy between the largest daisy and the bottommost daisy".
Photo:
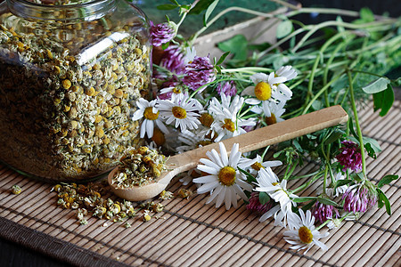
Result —
[[258, 187], [255, 190], [266, 192], [270, 198], [280, 204], [263, 214], [259, 221], [264, 222], [267, 218], [274, 216], [274, 225], [285, 227], [289, 214], [292, 214], [291, 205], [296, 206], [291, 198], [298, 198], [298, 196], [287, 190], [287, 180], [280, 182], [277, 175], [269, 167], [260, 169], [256, 180]]

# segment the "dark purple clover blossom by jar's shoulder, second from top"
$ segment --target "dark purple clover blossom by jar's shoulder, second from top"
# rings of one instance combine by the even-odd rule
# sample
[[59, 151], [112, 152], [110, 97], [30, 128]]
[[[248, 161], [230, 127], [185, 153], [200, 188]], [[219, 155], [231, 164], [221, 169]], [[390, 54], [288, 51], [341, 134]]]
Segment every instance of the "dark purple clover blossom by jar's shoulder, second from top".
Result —
[[170, 45], [164, 51], [160, 66], [176, 74], [183, 74], [185, 70], [185, 54], [180, 46]]

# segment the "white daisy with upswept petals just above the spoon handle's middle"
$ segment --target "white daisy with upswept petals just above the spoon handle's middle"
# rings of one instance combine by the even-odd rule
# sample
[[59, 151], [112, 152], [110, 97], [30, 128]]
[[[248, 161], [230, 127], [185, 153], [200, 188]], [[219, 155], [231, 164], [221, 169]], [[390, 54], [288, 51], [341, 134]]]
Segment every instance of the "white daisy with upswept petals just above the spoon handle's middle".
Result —
[[210, 101], [209, 112], [214, 119], [210, 125], [210, 131], [212, 134], [217, 134], [215, 142], [245, 134], [246, 131], [242, 127], [256, 125], [254, 118], [244, 120], [238, 117], [237, 113], [243, 101], [244, 99], [239, 95], [236, 95], [232, 101], [231, 96], [225, 94], [221, 94], [221, 102], [217, 98]]

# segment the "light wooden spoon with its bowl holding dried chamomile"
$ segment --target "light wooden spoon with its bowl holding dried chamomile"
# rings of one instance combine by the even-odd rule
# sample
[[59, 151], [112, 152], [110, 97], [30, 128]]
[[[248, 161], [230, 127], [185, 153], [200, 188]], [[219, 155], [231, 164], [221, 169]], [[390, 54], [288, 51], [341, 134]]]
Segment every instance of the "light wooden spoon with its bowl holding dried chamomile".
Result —
[[[293, 117], [280, 123], [259, 128], [246, 134], [241, 134], [222, 142], [225, 144], [227, 153], [230, 153], [233, 143], [239, 143], [240, 151], [249, 152], [258, 150], [268, 145], [290, 140], [304, 134], [310, 134], [326, 127], [343, 124], [348, 121], [347, 112], [340, 106], [333, 106], [308, 113], [299, 117]], [[167, 171], [161, 173], [156, 182], [144, 186], [134, 186], [131, 188], [119, 189], [112, 183], [114, 174], [118, 167], [113, 169], [108, 182], [111, 190], [120, 198], [131, 201], [140, 201], [153, 198], [165, 190], [168, 183], [176, 174], [188, 171], [200, 163], [201, 158], [206, 158], [206, 152], [217, 150], [218, 143], [212, 143], [196, 150], [186, 151], [168, 158]]]

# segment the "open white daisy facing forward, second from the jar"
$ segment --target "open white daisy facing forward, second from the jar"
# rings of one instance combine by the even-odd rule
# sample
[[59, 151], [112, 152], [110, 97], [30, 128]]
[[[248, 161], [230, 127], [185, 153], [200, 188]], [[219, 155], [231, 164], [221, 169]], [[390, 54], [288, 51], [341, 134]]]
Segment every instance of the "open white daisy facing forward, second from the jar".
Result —
[[201, 103], [195, 99], [189, 99], [187, 93], [178, 93], [171, 96], [171, 100], [159, 101], [160, 116], [166, 119], [166, 124], [175, 123], [181, 131], [196, 129], [201, 124], [199, 112]]

